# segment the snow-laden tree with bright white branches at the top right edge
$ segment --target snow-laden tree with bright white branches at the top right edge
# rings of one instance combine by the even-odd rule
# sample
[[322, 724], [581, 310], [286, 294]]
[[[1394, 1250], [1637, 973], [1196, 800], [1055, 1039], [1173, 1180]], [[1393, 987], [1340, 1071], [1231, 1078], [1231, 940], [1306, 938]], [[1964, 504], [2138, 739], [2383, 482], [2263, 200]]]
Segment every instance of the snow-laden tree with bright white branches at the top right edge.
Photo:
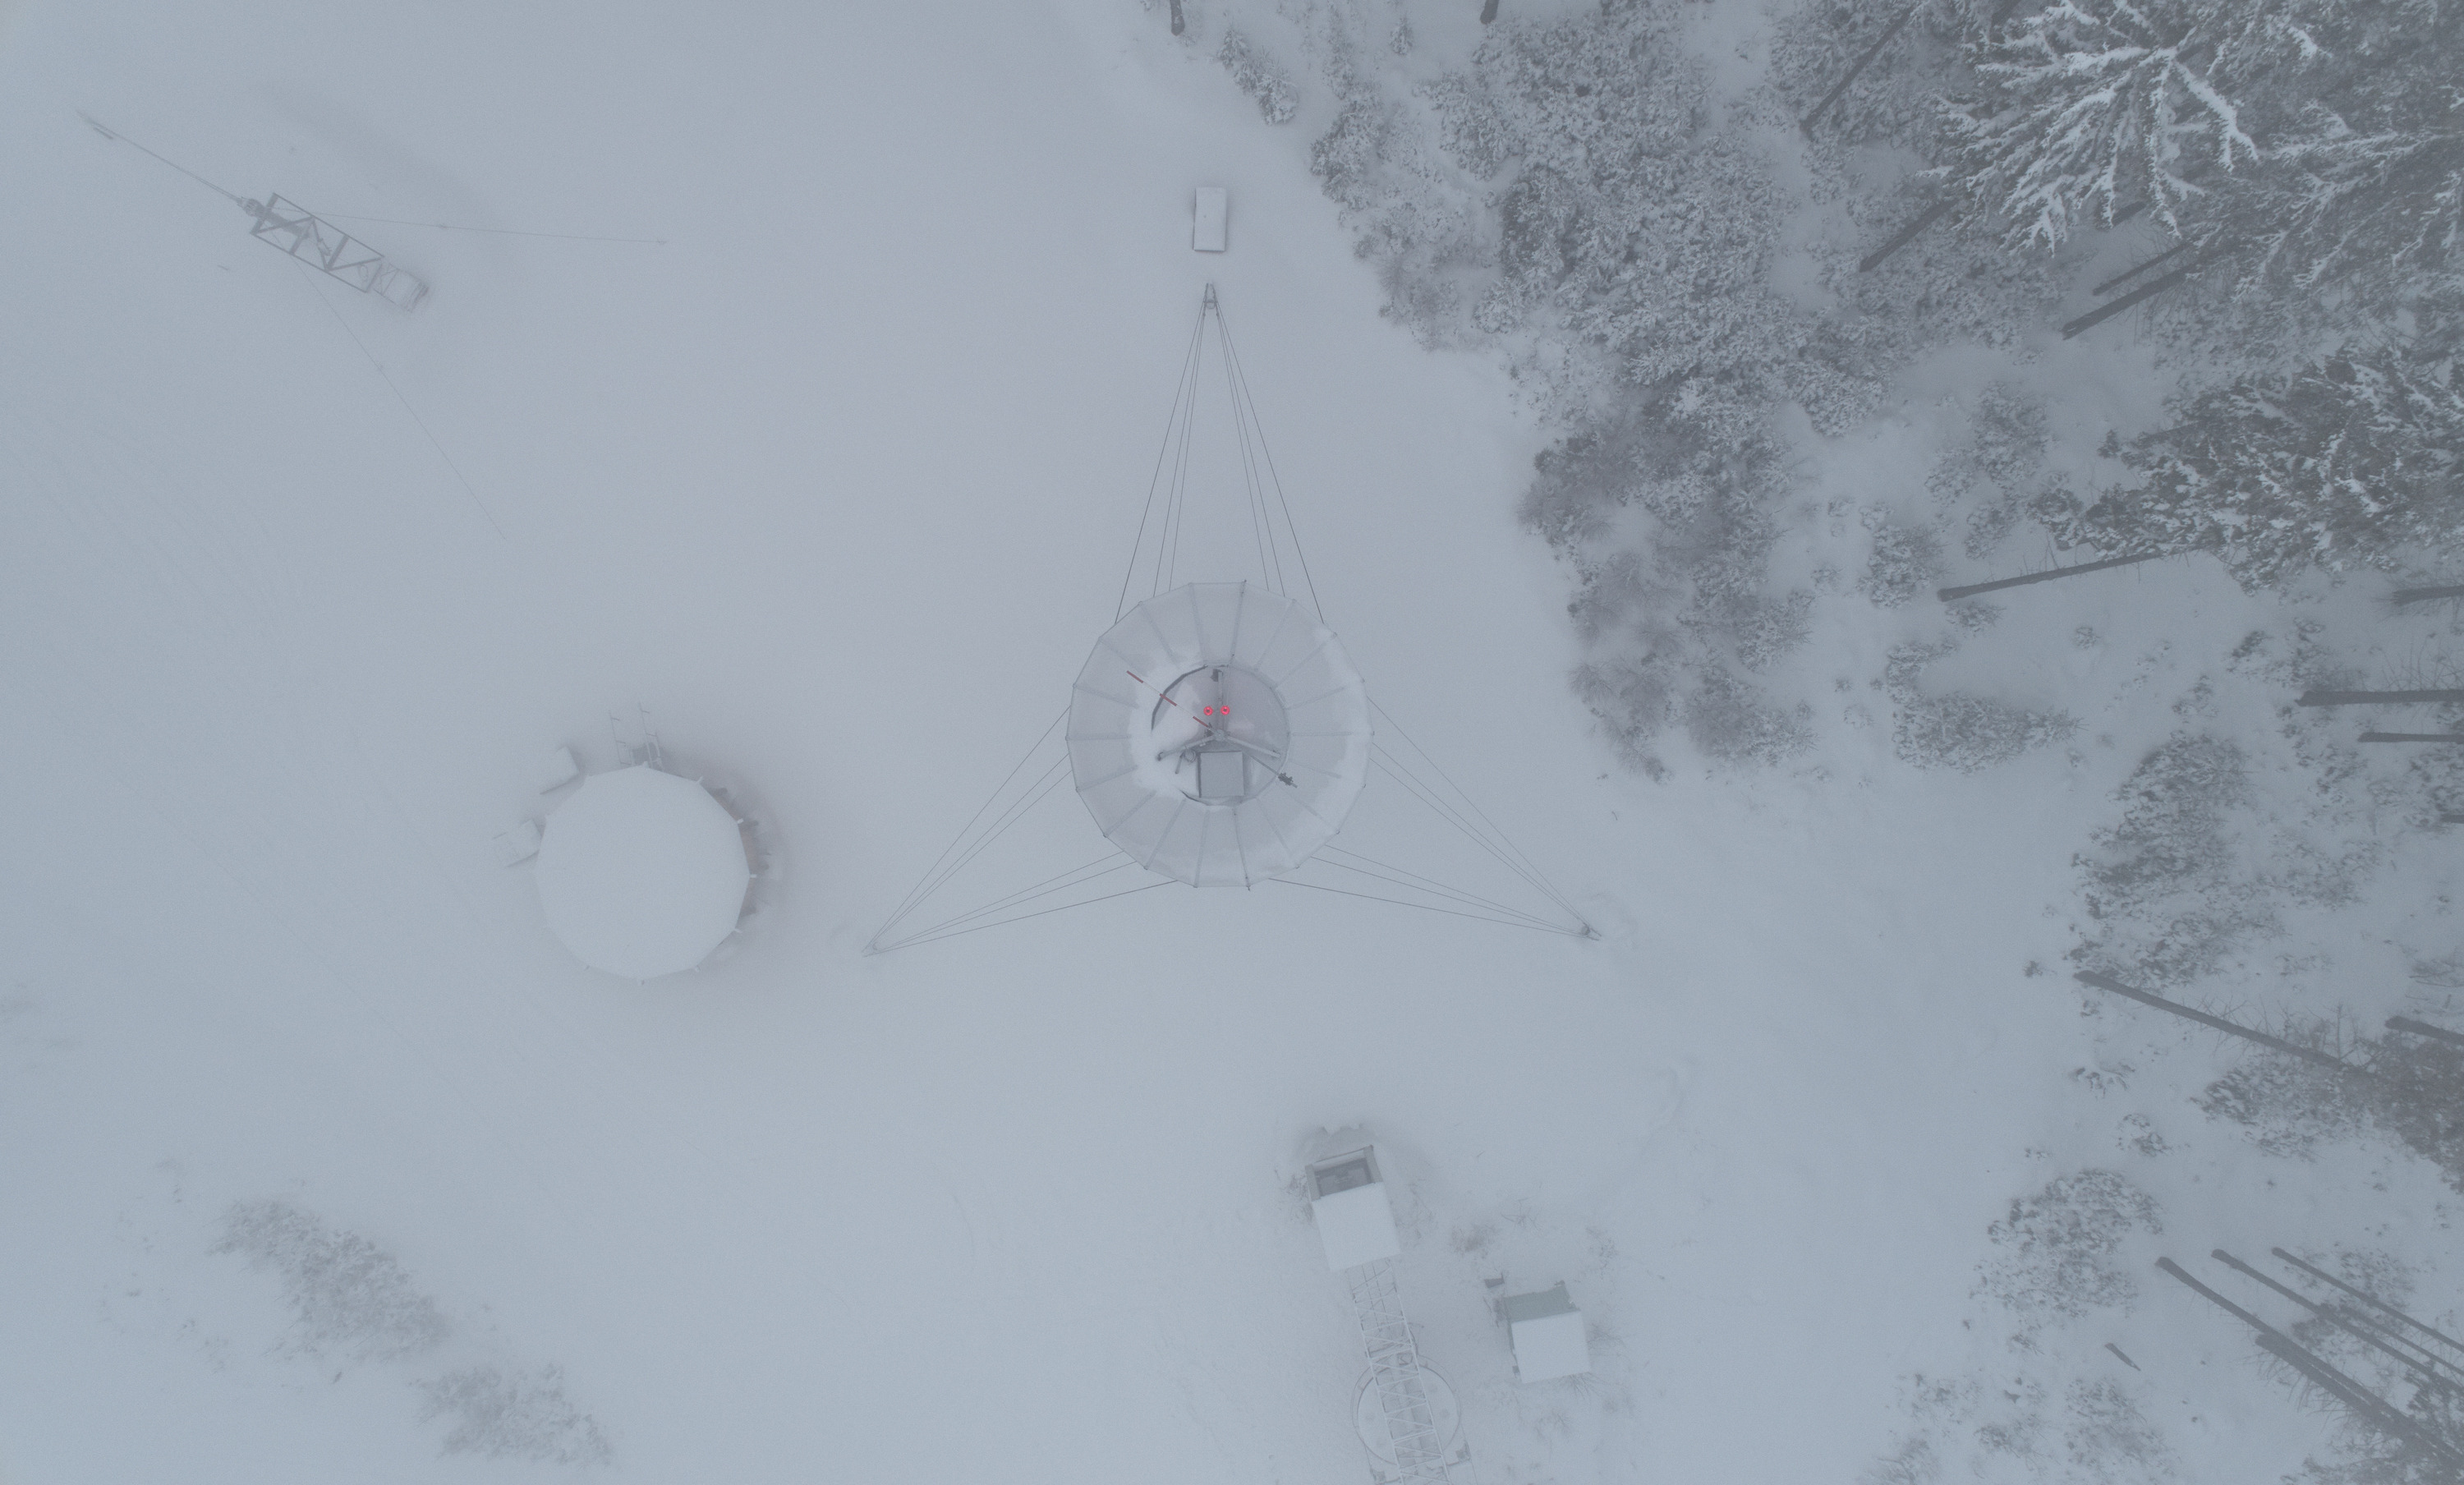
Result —
[[2301, 20], [2250, 0], [2057, 0], [1976, 42], [1947, 175], [2013, 244], [2060, 246], [2136, 202], [2178, 231], [2186, 202], [2259, 158], [2240, 99], [2314, 52]]

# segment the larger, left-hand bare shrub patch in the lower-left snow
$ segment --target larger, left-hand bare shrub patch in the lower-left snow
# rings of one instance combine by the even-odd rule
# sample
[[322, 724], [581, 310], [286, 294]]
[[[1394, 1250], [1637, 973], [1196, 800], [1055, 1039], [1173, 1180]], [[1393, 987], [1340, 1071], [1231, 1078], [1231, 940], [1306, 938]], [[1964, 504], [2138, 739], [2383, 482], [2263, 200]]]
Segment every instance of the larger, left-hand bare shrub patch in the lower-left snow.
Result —
[[392, 1254], [288, 1202], [234, 1204], [212, 1251], [241, 1254], [281, 1278], [298, 1345], [310, 1354], [407, 1357], [446, 1337], [436, 1300]]

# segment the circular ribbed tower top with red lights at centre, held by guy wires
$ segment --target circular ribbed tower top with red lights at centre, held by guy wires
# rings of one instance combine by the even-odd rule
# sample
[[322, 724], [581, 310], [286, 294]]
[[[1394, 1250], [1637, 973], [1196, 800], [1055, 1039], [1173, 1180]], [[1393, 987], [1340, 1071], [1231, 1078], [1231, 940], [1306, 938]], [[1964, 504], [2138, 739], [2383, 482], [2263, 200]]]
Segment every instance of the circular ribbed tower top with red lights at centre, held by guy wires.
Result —
[[[1225, 722], [1200, 717], [1232, 697]], [[1200, 800], [1198, 744], [1239, 751], [1254, 793]], [[1094, 643], [1069, 697], [1069, 771], [1096, 827], [1141, 867], [1247, 887], [1299, 869], [1343, 825], [1370, 771], [1370, 699], [1335, 635], [1291, 598], [1183, 584]]]

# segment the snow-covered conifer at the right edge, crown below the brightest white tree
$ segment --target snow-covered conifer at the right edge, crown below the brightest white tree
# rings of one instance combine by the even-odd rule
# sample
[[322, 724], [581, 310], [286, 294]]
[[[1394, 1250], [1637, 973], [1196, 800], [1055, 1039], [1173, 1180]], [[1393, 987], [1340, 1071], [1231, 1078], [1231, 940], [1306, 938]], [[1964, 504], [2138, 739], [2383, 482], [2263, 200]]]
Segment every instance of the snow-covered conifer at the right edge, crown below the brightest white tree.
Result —
[[2215, 552], [2245, 589], [2464, 554], [2464, 396], [2393, 350], [2210, 389], [2122, 458], [2144, 485], [2107, 493], [2062, 537]]

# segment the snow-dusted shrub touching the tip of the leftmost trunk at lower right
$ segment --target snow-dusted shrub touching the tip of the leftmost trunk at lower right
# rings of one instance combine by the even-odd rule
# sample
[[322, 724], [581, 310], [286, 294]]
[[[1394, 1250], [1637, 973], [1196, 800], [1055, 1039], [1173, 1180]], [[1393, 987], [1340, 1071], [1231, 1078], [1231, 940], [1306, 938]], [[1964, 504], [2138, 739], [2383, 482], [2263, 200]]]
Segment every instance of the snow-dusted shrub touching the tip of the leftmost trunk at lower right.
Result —
[[2163, 1231], [2156, 1199], [2112, 1170], [2057, 1177], [1986, 1229], [2003, 1258], [1986, 1263], [1984, 1290], [2028, 1327], [2053, 1318], [2129, 1305], [2139, 1281], [2114, 1258], [2134, 1234]]

